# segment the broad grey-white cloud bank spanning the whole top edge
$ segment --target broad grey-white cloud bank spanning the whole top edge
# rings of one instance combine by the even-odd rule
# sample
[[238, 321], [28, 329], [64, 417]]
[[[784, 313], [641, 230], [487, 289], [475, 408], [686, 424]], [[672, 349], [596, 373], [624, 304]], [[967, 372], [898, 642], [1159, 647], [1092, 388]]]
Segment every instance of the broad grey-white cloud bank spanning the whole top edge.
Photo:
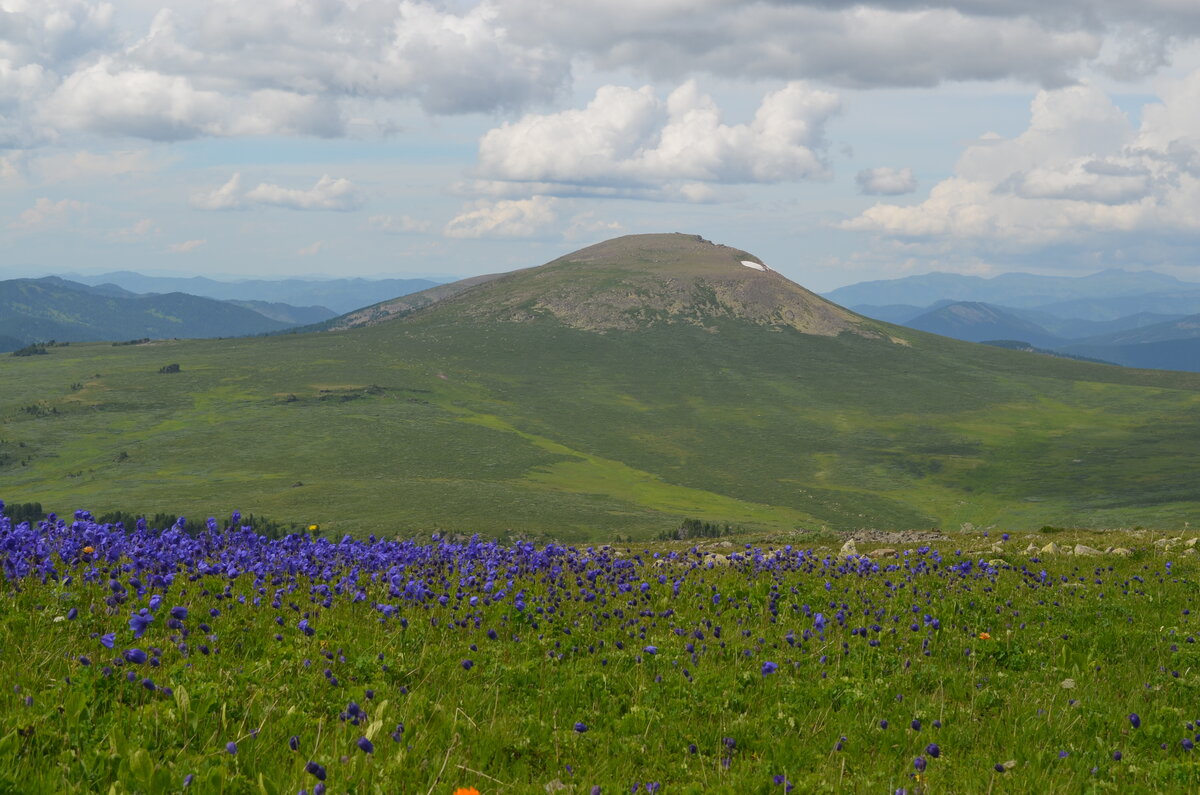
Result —
[[[0, 145], [343, 136], [553, 102], [572, 71], [854, 88], [1139, 79], [1200, 35], [1182, 0], [10, 0]], [[157, 12], [150, 13], [156, 6]], [[116, 13], [116, 8], [121, 13]], [[358, 125], [362, 128], [362, 125]]]

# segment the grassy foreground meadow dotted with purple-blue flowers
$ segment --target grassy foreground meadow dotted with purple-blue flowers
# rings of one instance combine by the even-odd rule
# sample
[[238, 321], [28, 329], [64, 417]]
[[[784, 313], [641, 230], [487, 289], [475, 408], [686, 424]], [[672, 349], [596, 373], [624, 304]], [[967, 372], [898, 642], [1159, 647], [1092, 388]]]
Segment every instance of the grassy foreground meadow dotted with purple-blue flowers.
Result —
[[1198, 567], [1148, 537], [846, 558], [223, 525], [0, 520], [0, 791], [1200, 788]]

